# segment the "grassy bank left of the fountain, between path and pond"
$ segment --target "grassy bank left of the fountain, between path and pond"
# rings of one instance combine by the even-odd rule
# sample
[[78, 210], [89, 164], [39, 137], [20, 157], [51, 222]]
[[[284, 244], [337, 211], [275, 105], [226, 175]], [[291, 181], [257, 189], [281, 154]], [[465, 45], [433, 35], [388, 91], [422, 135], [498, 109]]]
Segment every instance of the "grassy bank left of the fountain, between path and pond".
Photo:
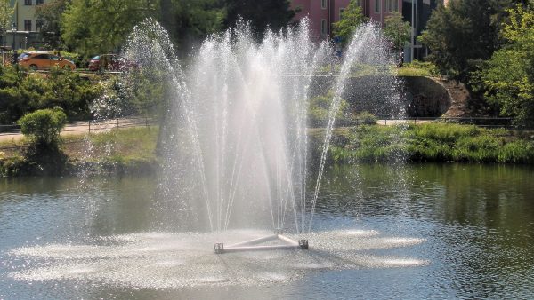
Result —
[[132, 173], [153, 171], [157, 127], [140, 127], [63, 138], [60, 153], [36, 160], [25, 155], [24, 140], [0, 143], [0, 175], [69, 175], [82, 170], [91, 173]]

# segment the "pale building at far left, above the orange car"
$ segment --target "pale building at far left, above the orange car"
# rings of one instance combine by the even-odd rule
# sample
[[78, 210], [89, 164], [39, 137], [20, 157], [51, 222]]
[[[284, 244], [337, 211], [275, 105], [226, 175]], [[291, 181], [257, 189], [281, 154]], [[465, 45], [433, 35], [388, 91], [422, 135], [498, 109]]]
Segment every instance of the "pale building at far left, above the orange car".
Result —
[[[41, 23], [36, 20], [36, 7], [52, 0], [12, 0], [12, 28], [7, 30], [5, 45], [15, 49], [39, 48]], [[14, 36], [14, 40], [13, 40]]]

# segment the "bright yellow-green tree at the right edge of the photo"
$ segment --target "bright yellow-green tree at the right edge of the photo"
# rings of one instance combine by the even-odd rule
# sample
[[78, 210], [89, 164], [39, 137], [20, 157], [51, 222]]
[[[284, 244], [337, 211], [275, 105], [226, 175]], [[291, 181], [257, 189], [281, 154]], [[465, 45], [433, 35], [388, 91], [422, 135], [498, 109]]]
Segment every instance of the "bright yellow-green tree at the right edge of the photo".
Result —
[[486, 99], [515, 122], [534, 126], [534, 9], [517, 5], [503, 24], [507, 44], [482, 71]]

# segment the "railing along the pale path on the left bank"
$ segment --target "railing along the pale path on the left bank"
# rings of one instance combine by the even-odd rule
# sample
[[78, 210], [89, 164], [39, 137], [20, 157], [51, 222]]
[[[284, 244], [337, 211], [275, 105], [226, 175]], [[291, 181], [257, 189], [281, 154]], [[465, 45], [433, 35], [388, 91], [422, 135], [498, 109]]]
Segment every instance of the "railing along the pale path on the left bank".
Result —
[[[61, 132], [102, 132], [114, 128], [130, 128], [130, 127], [149, 127], [153, 121], [148, 118], [131, 117], [131, 118], [117, 118], [107, 120], [88, 120], [67, 122], [65, 129]], [[0, 125], [0, 136], [18, 135], [20, 134], [19, 125]]]

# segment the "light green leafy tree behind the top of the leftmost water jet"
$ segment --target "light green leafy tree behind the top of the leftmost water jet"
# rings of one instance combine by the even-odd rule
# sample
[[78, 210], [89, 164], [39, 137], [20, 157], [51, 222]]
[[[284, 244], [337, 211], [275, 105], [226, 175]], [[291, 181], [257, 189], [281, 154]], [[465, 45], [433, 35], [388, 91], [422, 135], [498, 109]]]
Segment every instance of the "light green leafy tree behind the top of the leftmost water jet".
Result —
[[134, 25], [156, 15], [154, 0], [72, 0], [61, 20], [61, 38], [85, 55], [117, 51]]

